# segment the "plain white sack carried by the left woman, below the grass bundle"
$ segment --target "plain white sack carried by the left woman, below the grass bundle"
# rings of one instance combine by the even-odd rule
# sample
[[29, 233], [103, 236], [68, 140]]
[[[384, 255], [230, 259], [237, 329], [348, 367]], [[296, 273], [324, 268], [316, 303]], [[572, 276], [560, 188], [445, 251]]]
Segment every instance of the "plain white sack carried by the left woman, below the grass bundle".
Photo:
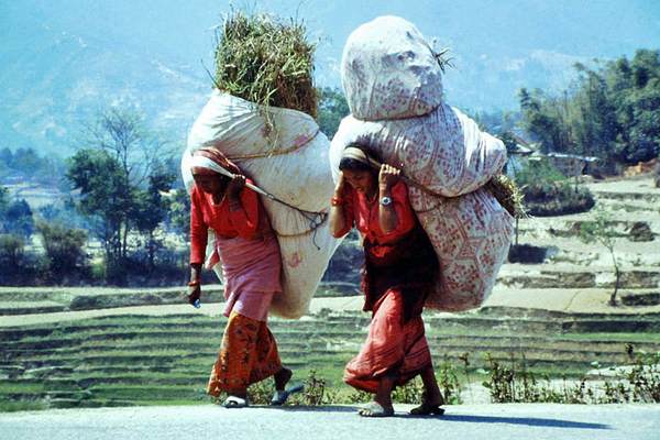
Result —
[[[266, 111], [274, 127], [270, 133]], [[190, 129], [182, 158], [188, 190], [194, 185], [189, 160], [202, 146], [222, 151], [260, 188], [278, 199], [306, 211], [327, 212], [334, 188], [327, 165], [329, 142], [310, 116], [290, 109], [264, 109], [216, 90]], [[267, 197], [262, 201], [283, 263], [284, 292], [274, 297], [271, 310], [298, 318], [308, 311], [338, 241], [330, 234], [327, 220], [312, 231], [310, 221], [296, 210]]]

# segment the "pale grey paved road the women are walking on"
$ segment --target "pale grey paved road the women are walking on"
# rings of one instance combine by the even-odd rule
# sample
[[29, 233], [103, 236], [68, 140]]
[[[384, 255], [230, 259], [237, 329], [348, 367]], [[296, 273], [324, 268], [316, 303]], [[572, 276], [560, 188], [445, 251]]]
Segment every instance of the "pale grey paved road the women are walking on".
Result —
[[7, 440], [658, 440], [660, 405], [473, 405], [442, 418], [363, 419], [351, 407], [141, 407], [0, 414]]

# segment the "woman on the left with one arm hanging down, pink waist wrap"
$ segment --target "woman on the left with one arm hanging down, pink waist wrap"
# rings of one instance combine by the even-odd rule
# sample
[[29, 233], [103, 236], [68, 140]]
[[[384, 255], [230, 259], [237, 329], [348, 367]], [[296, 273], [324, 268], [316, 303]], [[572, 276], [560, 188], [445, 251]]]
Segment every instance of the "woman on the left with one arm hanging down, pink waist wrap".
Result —
[[221, 152], [201, 148], [191, 164], [188, 300], [195, 305], [201, 295], [201, 266], [211, 228], [216, 242], [210, 263], [221, 261], [224, 316], [229, 317], [207, 393], [217, 397], [226, 392], [226, 407], [244, 407], [249, 405], [248, 386], [274, 376], [276, 392], [271, 404], [282, 405], [292, 393], [285, 391], [292, 371], [282, 365], [266, 326], [273, 295], [282, 292], [277, 239], [258, 195], [245, 187], [250, 180]]

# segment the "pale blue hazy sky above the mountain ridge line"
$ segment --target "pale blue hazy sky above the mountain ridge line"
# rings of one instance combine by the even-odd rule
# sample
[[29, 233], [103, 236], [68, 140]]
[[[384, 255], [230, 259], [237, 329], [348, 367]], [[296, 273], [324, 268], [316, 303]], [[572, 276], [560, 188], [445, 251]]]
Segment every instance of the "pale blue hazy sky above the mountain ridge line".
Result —
[[[337, 58], [349, 33], [377, 15], [402, 15], [457, 55], [544, 50], [613, 57], [660, 43], [660, 0], [275, 0], [234, 7], [306, 20], [319, 57]], [[151, 53], [197, 62], [213, 46], [212, 26], [230, 10], [210, 0], [0, 0], [2, 32], [37, 23]], [[320, 59], [323, 63], [323, 59]]]

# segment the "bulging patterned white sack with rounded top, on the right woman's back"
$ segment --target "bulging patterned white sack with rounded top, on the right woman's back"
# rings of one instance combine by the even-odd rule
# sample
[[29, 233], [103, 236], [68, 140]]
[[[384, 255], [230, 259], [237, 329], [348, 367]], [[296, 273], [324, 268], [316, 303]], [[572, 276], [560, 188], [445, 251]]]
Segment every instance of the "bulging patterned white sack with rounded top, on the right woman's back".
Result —
[[341, 69], [353, 113], [332, 140], [333, 177], [343, 148], [358, 142], [427, 188], [408, 189], [440, 265], [427, 306], [448, 311], [481, 306], [513, 233], [512, 216], [482, 188], [504, 167], [504, 144], [442, 101], [432, 51], [403, 19], [378, 18], [354, 31]]

